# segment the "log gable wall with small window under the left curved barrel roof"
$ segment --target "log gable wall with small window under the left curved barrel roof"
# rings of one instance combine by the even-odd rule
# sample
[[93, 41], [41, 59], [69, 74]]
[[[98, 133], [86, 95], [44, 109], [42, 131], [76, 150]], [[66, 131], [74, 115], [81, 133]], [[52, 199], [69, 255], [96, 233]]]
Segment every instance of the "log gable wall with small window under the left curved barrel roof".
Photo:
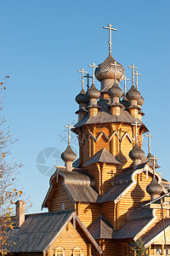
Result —
[[74, 204], [63, 186], [64, 178], [59, 176], [59, 181], [54, 188], [54, 195], [51, 199], [49, 212], [61, 211], [62, 203], [65, 203], [65, 210], [74, 210]]

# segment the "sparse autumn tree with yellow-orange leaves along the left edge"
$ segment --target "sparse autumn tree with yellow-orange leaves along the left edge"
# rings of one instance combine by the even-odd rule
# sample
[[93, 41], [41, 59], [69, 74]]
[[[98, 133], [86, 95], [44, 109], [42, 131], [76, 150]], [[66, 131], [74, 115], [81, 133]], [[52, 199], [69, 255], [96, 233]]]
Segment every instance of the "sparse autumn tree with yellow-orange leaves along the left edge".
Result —
[[14, 143], [6, 121], [3, 118], [3, 93], [6, 90], [8, 76], [0, 83], [0, 253], [8, 253], [8, 230], [14, 229], [14, 203], [19, 200], [22, 191], [17, 189], [18, 174], [21, 165], [11, 158], [11, 145]]

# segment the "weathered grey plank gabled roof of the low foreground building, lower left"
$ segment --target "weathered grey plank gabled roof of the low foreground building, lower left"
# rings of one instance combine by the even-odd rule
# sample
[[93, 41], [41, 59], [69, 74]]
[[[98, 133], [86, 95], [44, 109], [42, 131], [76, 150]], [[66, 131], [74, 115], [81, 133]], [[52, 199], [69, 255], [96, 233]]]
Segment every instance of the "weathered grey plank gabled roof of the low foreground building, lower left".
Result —
[[75, 212], [45, 212], [26, 215], [25, 222], [20, 228], [9, 231], [12, 246], [11, 253], [44, 253], [72, 218], [76, 219], [82, 233], [92, 242], [95, 249], [102, 253], [93, 236], [82, 224]]

